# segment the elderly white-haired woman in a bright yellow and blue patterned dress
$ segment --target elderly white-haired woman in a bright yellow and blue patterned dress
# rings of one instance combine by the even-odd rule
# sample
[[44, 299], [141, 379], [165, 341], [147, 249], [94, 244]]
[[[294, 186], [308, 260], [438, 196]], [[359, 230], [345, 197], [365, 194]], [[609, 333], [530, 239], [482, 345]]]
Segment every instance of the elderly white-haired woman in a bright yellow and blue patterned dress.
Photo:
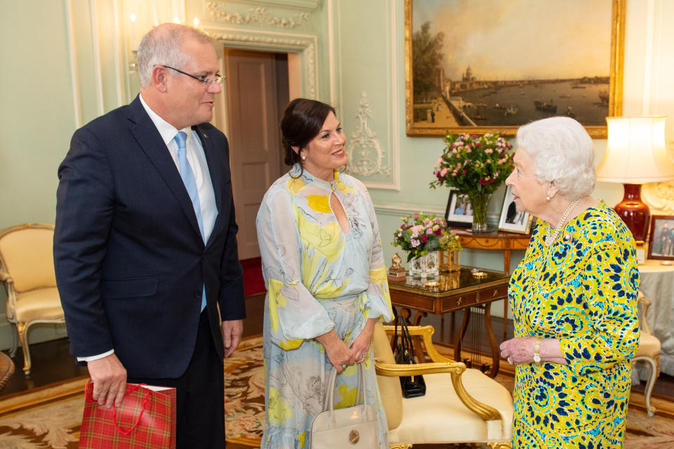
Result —
[[639, 342], [635, 242], [590, 193], [593, 147], [583, 126], [552, 117], [517, 132], [505, 180], [538, 217], [508, 297], [515, 338], [513, 448], [621, 448], [630, 359]]

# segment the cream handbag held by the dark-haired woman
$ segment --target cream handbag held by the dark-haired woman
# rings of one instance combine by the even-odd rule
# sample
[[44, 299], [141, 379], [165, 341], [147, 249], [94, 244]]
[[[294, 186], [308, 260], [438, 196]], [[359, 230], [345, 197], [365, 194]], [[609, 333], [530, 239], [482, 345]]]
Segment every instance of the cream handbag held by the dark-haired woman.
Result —
[[363, 394], [359, 406], [333, 410], [337, 370], [332, 370], [328, 381], [323, 411], [311, 422], [310, 449], [378, 449], [377, 413], [367, 405], [365, 374], [362, 363], [358, 366], [358, 391]]

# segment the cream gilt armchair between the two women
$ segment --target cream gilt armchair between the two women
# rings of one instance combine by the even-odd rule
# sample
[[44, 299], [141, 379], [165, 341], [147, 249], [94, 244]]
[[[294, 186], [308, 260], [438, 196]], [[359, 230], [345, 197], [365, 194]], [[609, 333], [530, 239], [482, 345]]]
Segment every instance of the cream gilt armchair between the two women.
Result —
[[[397, 365], [390, 345], [393, 330], [377, 324], [372, 343], [391, 449], [430, 443], [512, 447], [513, 397], [508, 389], [480, 370], [442, 356], [431, 342], [432, 326], [409, 326], [411, 335], [422, 337], [432, 363]], [[408, 375], [423, 375], [424, 396], [402, 396], [398, 377]]]

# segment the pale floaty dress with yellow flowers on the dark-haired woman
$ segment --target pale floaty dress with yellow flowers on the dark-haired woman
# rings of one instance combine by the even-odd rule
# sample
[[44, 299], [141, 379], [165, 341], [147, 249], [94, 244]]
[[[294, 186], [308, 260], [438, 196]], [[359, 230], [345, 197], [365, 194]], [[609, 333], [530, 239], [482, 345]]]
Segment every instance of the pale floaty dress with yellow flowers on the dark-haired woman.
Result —
[[[361, 182], [333, 182], [294, 166], [267, 190], [256, 220], [267, 286], [264, 317], [265, 433], [262, 448], [307, 448], [333, 366], [315, 337], [334, 329], [350, 346], [369, 318], [393, 319], [374, 206]], [[300, 175], [298, 177], [298, 175]], [[330, 206], [348, 217], [345, 234]], [[363, 364], [379, 444], [388, 449], [372, 350]], [[337, 376], [335, 406], [356, 404], [357, 368]]]

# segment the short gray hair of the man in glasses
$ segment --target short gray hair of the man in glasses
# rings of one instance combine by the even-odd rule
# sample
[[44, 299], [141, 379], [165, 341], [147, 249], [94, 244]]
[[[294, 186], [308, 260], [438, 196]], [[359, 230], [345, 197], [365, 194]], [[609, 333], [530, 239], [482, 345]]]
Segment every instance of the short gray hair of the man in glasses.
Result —
[[[182, 51], [183, 41], [187, 36], [200, 43], [211, 43], [211, 37], [208, 34], [176, 23], [164, 23], [143, 36], [138, 46], [138, 76], [141, 88], [150, 86], [152, 67], [155, 65], [168, 65], [180, 69], [190, 62], [190, 56]], [[180, 75], [173, 70], [171, 72], [173, 76]]]

